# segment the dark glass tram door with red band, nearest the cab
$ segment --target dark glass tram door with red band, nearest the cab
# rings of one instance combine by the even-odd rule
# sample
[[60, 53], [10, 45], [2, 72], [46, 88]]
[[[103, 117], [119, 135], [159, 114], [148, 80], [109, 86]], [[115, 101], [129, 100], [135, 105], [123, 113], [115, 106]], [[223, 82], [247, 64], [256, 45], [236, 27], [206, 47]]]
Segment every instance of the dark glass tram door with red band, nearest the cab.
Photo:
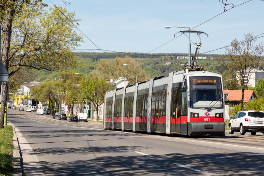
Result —
[[172, 89], [171, 131], [181, 132], [181, 88]]

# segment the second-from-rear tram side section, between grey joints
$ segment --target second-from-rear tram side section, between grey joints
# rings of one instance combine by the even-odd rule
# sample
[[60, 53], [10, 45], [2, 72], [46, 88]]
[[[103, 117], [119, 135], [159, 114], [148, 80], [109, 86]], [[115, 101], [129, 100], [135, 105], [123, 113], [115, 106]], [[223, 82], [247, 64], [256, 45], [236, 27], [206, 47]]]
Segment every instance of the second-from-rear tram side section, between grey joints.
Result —
[[114, 129], [122, 129], [122, 98], [123, 88], [116, 91], [114, 101]]

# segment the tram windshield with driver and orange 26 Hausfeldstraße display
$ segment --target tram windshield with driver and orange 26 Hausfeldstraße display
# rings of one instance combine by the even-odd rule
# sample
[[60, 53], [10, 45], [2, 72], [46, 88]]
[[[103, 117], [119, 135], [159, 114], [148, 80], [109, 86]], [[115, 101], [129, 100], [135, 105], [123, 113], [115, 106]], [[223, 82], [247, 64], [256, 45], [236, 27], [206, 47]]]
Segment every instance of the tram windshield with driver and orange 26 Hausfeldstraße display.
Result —
[[190, 77], [190, 108], [223, 108], [222, 84], [220, 77]]

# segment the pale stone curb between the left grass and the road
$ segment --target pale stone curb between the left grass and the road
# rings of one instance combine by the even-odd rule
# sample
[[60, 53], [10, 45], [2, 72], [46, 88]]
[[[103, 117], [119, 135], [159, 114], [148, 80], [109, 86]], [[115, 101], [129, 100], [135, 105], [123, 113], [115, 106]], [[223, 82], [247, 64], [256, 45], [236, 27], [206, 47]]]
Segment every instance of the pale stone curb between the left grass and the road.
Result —
[[18, 137], [16, 135], [16, 131], [14, 130], [14, 125], [12, 123], [9, 122], [10, 125], [13, 126], [13, 145], [14, 145], [14, 150], [13, 150], [13, 158], [12, 158], [12, 165], [14, 166], [13, 168], [13, 174], [12, 176], [22, 176], [24, 173], [24, 170], [21, 166], [20, 161], [22, 160], [21, 157], [21, 151], [20, 151], [20, 147], [18, 144]]

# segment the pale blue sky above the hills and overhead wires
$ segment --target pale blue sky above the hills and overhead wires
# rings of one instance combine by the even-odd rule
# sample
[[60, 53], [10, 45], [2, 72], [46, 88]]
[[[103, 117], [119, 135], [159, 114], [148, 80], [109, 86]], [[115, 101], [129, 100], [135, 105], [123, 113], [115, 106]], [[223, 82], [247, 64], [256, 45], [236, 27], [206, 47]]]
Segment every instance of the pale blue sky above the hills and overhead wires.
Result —
[[[185, 35], [174, 39], [175, 33], [186, 29], [164, 27], [193, 28], [224, 12], [222, 0], [64, 0], [71, 3], [68, 6], [63, 0], [43, 0], [51, 6], [50, 1], [69, 12], [74, 11], [76, 18], [81, 19], [79, 29], [98, 48], [118, 52], [188, 53], [189, 39]], [[239, 6], [231, 8], [227, 5], [226, 9], [230, 10], [192, 29], [209, 35], [208, 38], [201, 35], [200, 53], [230, 45], [235, 38], [243, 40], [247, 33], [253, 33], [253, 36], [264, 33], [264, 1], [247, 1], [227, 0], [227, 3]], [[244, 2], [247, 3], [240, 5]], [[98, 49], [85, 36], [83, 39], [85, 43], [79, 43], [76, 49]], [[191, 34], [191, 39], [199, 43], [195, 33]], [[169, 43], [158, 48], [166, 42]], [[257, 44], [261, 42], [264, 43], [264, 37], [257, 40]], [[195, 52], [193, 44], [191, 50]], [[224, 51], [211, 54], [223, 54]]]

